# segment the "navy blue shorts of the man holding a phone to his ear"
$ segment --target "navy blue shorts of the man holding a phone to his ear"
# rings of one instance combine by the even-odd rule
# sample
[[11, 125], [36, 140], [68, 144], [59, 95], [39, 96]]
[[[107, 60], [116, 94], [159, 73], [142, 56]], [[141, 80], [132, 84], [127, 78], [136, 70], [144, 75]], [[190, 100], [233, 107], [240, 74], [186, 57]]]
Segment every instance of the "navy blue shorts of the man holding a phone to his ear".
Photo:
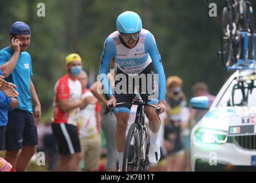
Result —
[[5, 145], [6, 150], [22, 149], [23, 145], [38, 145], [33, 114], [19, 109], [8, 112]]

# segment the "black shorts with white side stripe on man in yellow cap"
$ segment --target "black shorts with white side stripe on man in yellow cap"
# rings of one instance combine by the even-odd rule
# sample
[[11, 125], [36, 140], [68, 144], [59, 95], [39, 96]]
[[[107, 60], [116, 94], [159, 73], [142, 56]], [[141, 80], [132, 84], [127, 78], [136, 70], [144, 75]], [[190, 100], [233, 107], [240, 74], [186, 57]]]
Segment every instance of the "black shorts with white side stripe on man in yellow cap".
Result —
[[58, 153], [70, 155], [81, 152], [77, 127], [70, 124], [52, 123], [54, 137], [58, 142]]

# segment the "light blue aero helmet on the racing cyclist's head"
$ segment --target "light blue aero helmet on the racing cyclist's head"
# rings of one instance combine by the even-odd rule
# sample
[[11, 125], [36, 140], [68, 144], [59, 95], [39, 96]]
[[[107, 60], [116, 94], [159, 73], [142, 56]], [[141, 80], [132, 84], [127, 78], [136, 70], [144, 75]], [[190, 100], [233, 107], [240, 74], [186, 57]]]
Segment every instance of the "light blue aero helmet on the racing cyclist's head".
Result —
[[132, 34], [142, 29], [140, 16], [133, 11], [125, 11], [116, 19], [116, 29], [120, 33]]

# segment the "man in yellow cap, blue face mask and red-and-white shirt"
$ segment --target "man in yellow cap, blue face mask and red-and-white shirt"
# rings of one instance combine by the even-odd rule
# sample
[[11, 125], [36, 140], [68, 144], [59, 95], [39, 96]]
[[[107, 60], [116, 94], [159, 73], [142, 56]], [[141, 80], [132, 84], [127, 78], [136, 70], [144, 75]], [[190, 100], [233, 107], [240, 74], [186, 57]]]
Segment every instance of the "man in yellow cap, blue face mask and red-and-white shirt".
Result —
[[57, 171], [78, 171], [82, 159], [78, 137], [78, 114], [80, 109], [92, 102], [82, 99], [82, 85], [77, 76], [82, 70], [82, 59], [78, 54], [66, 57], [66, 74], [54, 86], [53, 134], [58, 143]]

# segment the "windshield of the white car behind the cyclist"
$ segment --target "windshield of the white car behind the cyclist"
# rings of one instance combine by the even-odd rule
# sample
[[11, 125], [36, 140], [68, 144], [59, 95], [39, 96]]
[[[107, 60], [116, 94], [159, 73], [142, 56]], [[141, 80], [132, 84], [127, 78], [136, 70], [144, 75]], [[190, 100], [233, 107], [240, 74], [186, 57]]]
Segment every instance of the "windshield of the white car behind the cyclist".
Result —
[[235, 78], [223, 94], [218, 106], [256, 106], [255, 76]]

